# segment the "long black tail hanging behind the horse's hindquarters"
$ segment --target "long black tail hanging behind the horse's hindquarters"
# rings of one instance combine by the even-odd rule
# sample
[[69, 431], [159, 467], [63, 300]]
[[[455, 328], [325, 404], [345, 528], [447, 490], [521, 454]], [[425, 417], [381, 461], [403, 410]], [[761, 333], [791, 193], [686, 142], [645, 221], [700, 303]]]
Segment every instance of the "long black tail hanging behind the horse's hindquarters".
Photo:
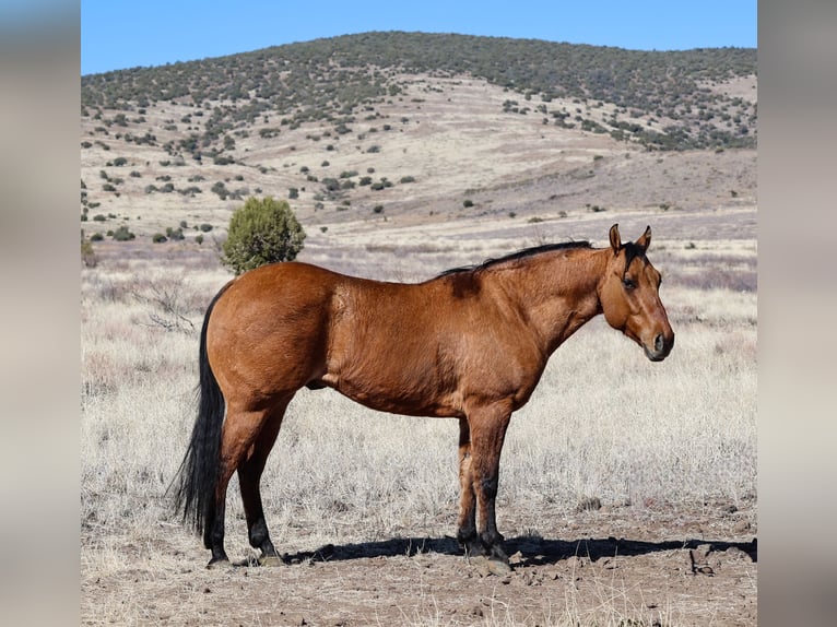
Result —
[[211, 525], [214, 519], [214, 498], [221, 458], [221, 428], [225, 411], [224, 395], [221, 393], [207, 357], [207, 329], [212, 309], [225, 291], [226, 286], [215, 295], [203, 317], [199, 353], [200, 377], [197, 389], [198, 418], [192, 427], [184, 461], [168, 488], [169, 490], [174, 488], [175, 510], [182, 511], [184, 523], [188, 521], [199, 534], [205, 525]]

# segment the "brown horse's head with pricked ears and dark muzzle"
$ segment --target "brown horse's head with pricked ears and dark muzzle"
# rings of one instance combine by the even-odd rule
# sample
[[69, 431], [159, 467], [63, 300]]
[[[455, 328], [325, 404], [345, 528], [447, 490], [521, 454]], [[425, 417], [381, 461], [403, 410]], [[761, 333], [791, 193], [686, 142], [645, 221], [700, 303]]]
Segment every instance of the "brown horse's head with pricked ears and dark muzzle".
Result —
[[645, 256], [651, 227], [633, 242], [622, 244], [618, 225], [610, 232], [608, 269], [599, 283], [599, 300], [608, 323], [634, 340], [652, 362], [664, 359], [674, 331], [660, 301], [660, 273]]

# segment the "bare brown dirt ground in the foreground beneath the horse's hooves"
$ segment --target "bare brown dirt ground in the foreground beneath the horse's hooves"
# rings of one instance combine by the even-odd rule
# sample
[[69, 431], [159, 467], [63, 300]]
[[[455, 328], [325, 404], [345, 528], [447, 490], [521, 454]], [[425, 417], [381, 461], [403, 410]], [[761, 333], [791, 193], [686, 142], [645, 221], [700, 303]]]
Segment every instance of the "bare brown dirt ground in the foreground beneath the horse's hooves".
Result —
[[[467, 560], [447, 535], [329, 544], [284, 554], [281, 566], [209, 570], [200, 541], [169, 529], [153, 547], [125, 545], [135, 569], [82, 581], [82, 624], [757, 623], [754, 502], [597, 505], [569, 518], [545, 511], [543, 531], [506, 517], [510, 573]], [[151, 564], [166, 554], [174, 558]]]

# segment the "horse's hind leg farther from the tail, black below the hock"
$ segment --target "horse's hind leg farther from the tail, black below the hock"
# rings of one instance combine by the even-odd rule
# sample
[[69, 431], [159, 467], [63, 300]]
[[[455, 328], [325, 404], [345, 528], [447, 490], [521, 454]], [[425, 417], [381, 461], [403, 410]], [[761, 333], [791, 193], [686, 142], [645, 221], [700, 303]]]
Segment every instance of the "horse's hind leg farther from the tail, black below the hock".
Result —
[[279, 429], [282, 426], [282, 418], [290, 401], [290, 398], [283, 400], [271, 411], [249, 454], [238, 465], [238, 483], [241, 488], [241, 501], [244, 502], [244, 512], [247, 518], [247, 534], [250, 546], [261, 551], [259, 563], [262, 565], [279, 564], [280, 557], [268, 532], [259, 482], [261, 481], [261, 474], [264, 471], [268, 456], [276, 441]]

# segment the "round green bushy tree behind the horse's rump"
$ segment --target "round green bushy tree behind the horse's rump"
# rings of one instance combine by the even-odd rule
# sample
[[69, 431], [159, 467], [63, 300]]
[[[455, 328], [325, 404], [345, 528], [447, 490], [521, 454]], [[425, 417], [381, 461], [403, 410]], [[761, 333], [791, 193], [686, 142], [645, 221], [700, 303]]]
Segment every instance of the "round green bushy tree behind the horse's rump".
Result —
[[293, 261], [305, 230], [284, 200], [250, 197], [229, 218], [221, 262], [236, 275], [278, 261]]

